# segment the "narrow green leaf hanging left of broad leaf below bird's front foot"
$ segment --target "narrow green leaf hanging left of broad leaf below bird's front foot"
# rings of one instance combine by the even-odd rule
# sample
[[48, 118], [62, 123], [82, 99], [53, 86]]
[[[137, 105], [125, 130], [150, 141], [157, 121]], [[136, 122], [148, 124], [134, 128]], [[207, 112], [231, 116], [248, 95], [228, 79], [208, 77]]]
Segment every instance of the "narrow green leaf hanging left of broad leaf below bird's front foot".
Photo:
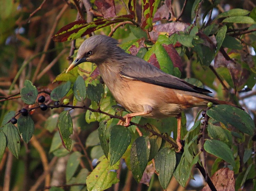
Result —
[[106, 139], [106, 127], [107, 127], [107, 122], [106, 120], [101, 121], [99, 124], [98, 132], [99, 132], [99, 139], [100, 139], [100, 145], [101, 148], [104, 152], [104, 155], [108, 159], [108, 154], [109, 154], [109, 143]]

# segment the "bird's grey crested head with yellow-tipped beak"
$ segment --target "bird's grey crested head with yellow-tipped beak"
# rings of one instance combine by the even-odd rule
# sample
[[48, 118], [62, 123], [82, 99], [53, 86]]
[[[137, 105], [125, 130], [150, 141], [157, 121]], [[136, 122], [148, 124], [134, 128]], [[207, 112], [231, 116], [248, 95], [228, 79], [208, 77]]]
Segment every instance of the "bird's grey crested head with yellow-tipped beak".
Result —
[[67, 72], [83, 62], [100, 65], [108, 59], [119, 59], [122, 55], [126, 55], [127, 53], [117, 45], [117, 40], [105, 35], [95, 35], [87, 38], [79, 47], [77, 56]]

